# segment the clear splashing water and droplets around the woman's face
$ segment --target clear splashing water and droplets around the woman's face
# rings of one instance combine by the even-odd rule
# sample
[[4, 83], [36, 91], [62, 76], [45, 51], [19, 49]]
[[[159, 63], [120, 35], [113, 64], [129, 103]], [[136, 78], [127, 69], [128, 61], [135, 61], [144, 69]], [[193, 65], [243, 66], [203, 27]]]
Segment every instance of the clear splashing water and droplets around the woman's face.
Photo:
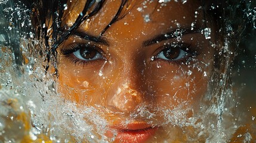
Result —
[[[0, 4], [7, 4], [7, 2], [0, 1]], [[14, 24], [16, 18], [14, 17], [17, 16], [17, 20], [21, 21], [21, 27], [30, 25], [27, 24], [29, 23], [29, 20], [27, 20], [29, 18], [23, 17], [26, 14], [19, 8], [17, 6], [16, 9], [6, 8], [4, 10], [7, 15], [12, 14], [10, 20], [7, 20], [11, 25], [8, 26], [7, 24], [5, 29], [10, 33], [14, 33], [12, 33], [13, 35], [7, 35], [6, 33], [1, 33], [0, 35], [0, 141], [18, 142], [23, 141], [27, 137], [32, 142], [39, 142], [42, 136], [45, 137], [44, 141], [53, 142], [72, 142], [74, 138], [76, 141], [84, 141], [85, 139], [88, 142], [113, 140], [108, 140], [104, 137], [104, 132], [108, 128], [106, 119], [102, 117], [103, 113], [108, 113], [104, 107], [79, 106], [74, 102], [64, 101], [61, 95], [58, 94], [54, 76], [45, 74], [46, 64], [38, 62], [45, 61], [45, 57], [44, 55], [37, 54], [36, 46], [42, 45], [33, 39], [35, 36], [32, 31], [26, 30], [26, 33], [20, 32], [17, 35], [18, 38], [24, 38], [23, 40], [16, 39], [19, 43], [18, 49], [22, 49], [21, 55], [18, 55], [17, 52], [14, 53], [17, 49], [8, 46], [8, 38], [17, 33], [17, 27]], [[254, 21], [255, 27], [255, 11], [247, 14]], [[149, 22], [150, 20], [145, 21]], [[192, 24], [191, 27], [193, 28], [193, 26]], [[230, 31], [233, 31], [231, 27], [228, 28]], [[211, 39], [211, 29], [204, 29], [202, 34], [205, 35], [206, 39]], [[174, 37], [178, 41], [181, 40], [181, 36], [182, 33], [175, 32]], [[230, 54], [228, 39], [224, 42], [224, 46], [219, 54], [223, 56]], [[20, 64], [15, 62], [17, 58], [22, 59]], [[154, 61], [155, 57], [152, 57], [150, 60]], [[226, 62], [226, 65], [230, 65], [228, 63], [230, 62], [229, 60]], [[98, 76], [103, 76], [102, 70], [105, 64], [106, 61], [101, 67]], [[229, 71], [230, 69], [227, 66], [223, 70]], [[190, 70], [186, 74], [189, 76], [193, 75]], [[204, 71], [203, 76], [208, 76], [208, 73]], [[227, 81], [229, 75], [224, 72], [218, 77], [221, 80], [214, 86], [220, 87], [221, 92], [213, 95], [209, 89], [209, 92], [203, 97], [201, 105], [196, 105], [196, 107], [200, 106], [199, 113], [195, 114], [190, 108], [185, 108], [186, 105], [189, 105], [189, 102], [184, 101], [180, 101], [178, 107], [168, 110], [165, 108], [148, 110], [146, 105], [141, 105], [138, 110], [130, 114], [127, 123], [141, 117], [153, 120], [158, 114], [162, 114], [163, 119], [159, 125], [168, 125], [169, 128], [180, 128], [181, 130], [190, 128], [191, 132], [186, 132], [187, 141], [191, 139], [192, 142], [205, 140], [206, 142], [226, 142], [232, 137], [235, 130], [239, 128], [242, 119], [235, 118], [240, 116], [236, 116], [232, 111], [234, 110], [237, 97], [230, 90], [233, 87]], [[217, 78], [212, 78], [212, 83], [214, 83], [214, 80], [217, 80]], [[219, 97], [219, 95], [221, 96]], [[170, 95], [168, 96], [170, 97]], [[175, 98], [175, 95], [172, 97]], [[177, 98], [175, 99], [178, 100]], [[212, 104], [209, 105], [209, 102]], [[29, 112], [31, 116], [29, 116]], [[188, 114], [193, 114], [193, 116], [187, 117]], [[252, 121], [255, 120], [255, 116], [251, 116], [251, 118]], [[158, 122], [156, 121], [156, 123]], [[192, 135], [195, 132], [197, 136]], [[244, 141], [252, 140], [250, 132], [241, 134], [241, 136], [245, 137]]]

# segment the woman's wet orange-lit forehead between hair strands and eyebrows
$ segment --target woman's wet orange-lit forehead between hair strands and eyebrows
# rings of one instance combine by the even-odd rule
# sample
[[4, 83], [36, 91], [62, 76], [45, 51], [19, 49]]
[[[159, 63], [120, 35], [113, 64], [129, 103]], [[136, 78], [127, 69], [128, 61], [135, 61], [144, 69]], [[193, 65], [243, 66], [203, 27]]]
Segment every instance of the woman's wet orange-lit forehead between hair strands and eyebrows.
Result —
[[[72, 26], [78, 15], [84, 9], [86, 1], [69, 2], [64, 24]], [[103, 7], [93, 17], [85, 20], [80, 30], [91, 35], [99, 35], [115, 17], [121, 1], [106, 1]], [[116, 34], [135, 32], [134, 36], [145, 33], [155, 35], [177, 27], [202, 26], [202, 7], [199, 1], [162, 2], [162, 1], [128, 1], [122, 9], [118, 20], [110, 26]]]

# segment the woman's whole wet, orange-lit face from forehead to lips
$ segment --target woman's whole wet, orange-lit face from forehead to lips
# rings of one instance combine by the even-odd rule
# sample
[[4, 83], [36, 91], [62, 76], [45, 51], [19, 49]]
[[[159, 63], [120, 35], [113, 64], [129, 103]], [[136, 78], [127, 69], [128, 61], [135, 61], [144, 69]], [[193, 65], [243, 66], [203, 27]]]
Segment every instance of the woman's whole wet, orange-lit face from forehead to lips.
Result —
[[[63, 26], [84, 4], [70, 2]], [[97, 108], [116, 142], [184, 141], [181, 124], [200, 108], [212, 71], [214, 48], [201, 30], [214, 27], [199, 1], [132, 1], [100, 36], [120, 4], [106, 1], [58, 48], [58, 92]]]

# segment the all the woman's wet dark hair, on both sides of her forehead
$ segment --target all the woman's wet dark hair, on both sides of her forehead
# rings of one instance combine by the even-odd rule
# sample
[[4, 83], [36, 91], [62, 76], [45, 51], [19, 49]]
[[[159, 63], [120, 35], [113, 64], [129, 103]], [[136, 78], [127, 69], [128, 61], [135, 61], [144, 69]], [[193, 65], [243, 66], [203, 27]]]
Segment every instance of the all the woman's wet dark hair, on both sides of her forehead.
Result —
[[[36, 37], [42, 43], [47, 51], [47, 60], [48, 64], [45, 66], [46, 71], [48, 70], [50, 60], [53, 60], [52, 64], [55, 66], [57, 71], [56, 63], [56, 49], [60, 44], [69, 38], [72, 35], [72, 32], [77, 29], [81, 23], [87, 20], [90, 17], [93, 17], [97, 14], [103, 7], [106, 0], [88, 0], [85, 2], [84, 9], [76, 18], [75, 23], [69, 27], [68, 30], [64, 30], [64, 27], [61, 27], [61, 18], [64, 17], [64, 10], [69, 1], [64, 0], [24, 0], [25, 3], [32, 10], [31, 16], [33, 21], [33, 26], [35, 28]], [[74, 1], [75, 2], [75, 1]], [[215, 32], [218, 35], [219, 41], [217, 42], [218, 47], [215, 48], [215, 73], [223, 73], [223, 70], [226, 69], [225, 61], [229, 58], [228, 61], [232, 61], [235, 57], [236, 51], [239, 49], [238, 45], [240, 38], [242, 38], [243, 31], [245, 29], [245, 11], [246, 10], [246, 0], [243, 1], [203, 1], [201, 0], [205, 19], [210, 19], [212, 23], [215, 23], [217, 26], [217, 31]], [[124, 11], [127, 10], [127, 7], [131, 4], [131, 0], [122, 0], [119, 6], [118, 11], [115, 16], [112, 18], [109, 24], [102, 30], [98, 37], [102, 36], [104, 32], [116, 21], [120, 20], [125, 16]], [[239, 17], [239, 18], [235, 18]], [[234, 20], [235, 19], [235, 20]], [[49, 23], [52, 21], [52, 23]], [[205, 27], [207, 24], [205, 24]], [[47, 30], [51, 29], [49, 33]], [[51, 38], [50, 38], [51, 37]], [[50, 40], [50, 41], [49, 41]], [[227, 52], [226, 44], [229, 44], [230, 49]], [[217, 76], [220, 76], [220, 75]]]

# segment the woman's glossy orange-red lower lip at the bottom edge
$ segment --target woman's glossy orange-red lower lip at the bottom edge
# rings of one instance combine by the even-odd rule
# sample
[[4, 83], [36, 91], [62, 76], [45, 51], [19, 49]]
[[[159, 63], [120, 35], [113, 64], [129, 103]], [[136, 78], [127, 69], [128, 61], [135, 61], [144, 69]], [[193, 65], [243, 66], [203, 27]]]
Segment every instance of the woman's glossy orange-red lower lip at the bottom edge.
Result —
[[144, 128], [137, 130], [120, 130], [116, 136], [115, 142], [145, 142], [156, 132], [157, 128]]

